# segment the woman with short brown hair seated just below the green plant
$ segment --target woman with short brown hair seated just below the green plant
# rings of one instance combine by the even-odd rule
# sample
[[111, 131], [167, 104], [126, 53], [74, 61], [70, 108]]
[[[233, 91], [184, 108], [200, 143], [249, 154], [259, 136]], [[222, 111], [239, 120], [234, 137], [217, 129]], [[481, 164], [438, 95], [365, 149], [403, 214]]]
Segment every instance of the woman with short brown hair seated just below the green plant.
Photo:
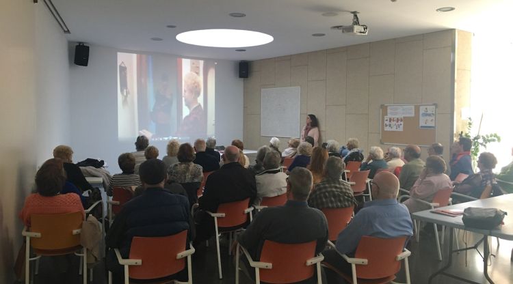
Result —
[[496, 165], [497, 158], [495, 158], [492, 153], [481, 153], [477, 159], [477, 168], [479, 168], [479, 172], [467, 177], [462, 184], [459, 184], [454, 188], [454, 191], [477, 199], [488, 198], [492, 193], [500, 195], [500, 193], [494, 192], [495, 190], [493, 190], [494, 184], [497, 184], [497, 181], [495, 180], [495, 175], [493, 174], [492, 169], [495, 169]]

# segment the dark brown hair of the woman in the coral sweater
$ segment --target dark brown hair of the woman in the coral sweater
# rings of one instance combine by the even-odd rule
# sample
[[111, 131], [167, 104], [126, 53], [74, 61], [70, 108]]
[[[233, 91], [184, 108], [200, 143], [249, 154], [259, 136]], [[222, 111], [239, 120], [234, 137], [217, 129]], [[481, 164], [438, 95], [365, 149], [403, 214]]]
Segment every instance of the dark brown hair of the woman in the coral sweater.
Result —
[[60, 193], [66, 183], [63, 161], [60, 158], [49, 159], [36, 173], [36, 186], [42, 196], [54, 196]]

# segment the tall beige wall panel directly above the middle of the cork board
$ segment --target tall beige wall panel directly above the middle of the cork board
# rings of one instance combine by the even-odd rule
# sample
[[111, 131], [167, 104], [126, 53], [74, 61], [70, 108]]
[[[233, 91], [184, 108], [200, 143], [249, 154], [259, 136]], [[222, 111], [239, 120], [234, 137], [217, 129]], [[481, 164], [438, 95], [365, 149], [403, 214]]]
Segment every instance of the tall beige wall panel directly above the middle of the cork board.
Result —
[[395, 48], [395, 103], [422, 102], [422, 42], [402, 42]]

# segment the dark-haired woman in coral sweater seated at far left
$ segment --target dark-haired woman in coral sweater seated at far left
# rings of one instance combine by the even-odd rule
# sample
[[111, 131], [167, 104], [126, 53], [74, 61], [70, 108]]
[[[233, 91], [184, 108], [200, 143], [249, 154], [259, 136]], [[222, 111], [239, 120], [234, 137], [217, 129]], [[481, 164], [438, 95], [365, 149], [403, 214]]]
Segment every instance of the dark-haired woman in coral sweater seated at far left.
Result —
[[32, 214], [64, 214], [72, 212], [86, 213], [79, 195], [75, 193], [60, 194], [66, 183], [66, 173], [60, 160], [49, 159], [43, 163], [36, 173], [36, 192], [25, 199], [20, 212], [23, 224], [30, 226]]

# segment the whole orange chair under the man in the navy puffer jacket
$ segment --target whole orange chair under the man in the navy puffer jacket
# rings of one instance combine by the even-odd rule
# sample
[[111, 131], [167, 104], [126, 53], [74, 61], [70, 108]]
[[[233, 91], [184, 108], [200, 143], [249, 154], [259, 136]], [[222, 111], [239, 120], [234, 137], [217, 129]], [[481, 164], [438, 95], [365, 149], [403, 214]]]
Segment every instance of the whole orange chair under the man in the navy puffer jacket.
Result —
[[[130, 279], [150, 280], [171, 276], [185, 268], [187, 257], [187, 282], [174, 283], [192, 284], [191, 255], [194, 247], [187, 245], [187, 230], [165, 237], [133, 237], [130, 245], [129, 259], [123, 259], [118, 248], [114, 248], [119, 263], [124, 266], [124, 283]], [[112, 273], [109, 272], [109, 284]], [[168, 282], [166, 282], [168, 283]]]

